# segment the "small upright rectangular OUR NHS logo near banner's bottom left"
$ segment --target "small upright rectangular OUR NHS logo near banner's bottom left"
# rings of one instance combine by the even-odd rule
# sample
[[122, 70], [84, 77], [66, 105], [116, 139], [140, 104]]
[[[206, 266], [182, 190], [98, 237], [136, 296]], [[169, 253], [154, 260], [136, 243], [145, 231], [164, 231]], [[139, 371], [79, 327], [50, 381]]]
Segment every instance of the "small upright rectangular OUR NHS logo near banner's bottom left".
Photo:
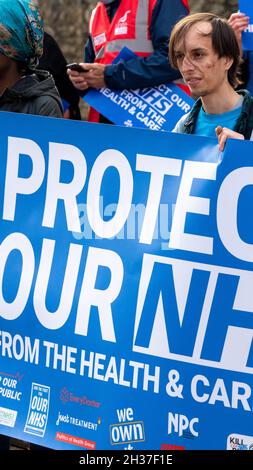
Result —
[[24, 432], [44, 437], [50, 403], [50, 387], [32, 383], [30, 405]]

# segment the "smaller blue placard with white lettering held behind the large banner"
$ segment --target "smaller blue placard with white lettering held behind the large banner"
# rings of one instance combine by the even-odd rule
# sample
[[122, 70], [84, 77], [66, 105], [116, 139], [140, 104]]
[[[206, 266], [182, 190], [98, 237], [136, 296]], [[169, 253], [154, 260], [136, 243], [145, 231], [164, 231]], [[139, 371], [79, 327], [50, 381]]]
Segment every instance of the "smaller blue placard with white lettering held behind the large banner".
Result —
[[[135, 54], [124, 47], [114, 62], [130, 60]], [[194, 103], [174, 83], [136, 90], [90, 89], [83, 99], [114, 124], [171, 131]]]

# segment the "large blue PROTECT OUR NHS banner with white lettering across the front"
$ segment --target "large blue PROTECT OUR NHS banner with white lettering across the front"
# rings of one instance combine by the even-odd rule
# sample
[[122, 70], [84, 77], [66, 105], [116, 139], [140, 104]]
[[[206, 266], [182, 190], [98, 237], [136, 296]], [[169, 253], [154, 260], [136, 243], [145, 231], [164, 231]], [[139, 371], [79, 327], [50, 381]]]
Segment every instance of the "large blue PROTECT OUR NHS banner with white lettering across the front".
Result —
[[0, 120], [0, 434], [251, 449], [253, 144]]

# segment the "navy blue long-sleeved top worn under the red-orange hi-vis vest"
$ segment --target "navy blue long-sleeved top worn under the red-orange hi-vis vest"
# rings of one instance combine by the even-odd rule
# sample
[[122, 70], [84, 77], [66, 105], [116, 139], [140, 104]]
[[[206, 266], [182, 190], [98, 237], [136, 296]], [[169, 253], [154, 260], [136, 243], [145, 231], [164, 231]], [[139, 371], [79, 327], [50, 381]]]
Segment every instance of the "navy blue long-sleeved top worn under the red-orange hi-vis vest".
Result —
[[[121, 0], [124, 1], [124, 0]], [[120, 0], [115, 0], [107, 7], [110, 20], [113, 18]], [[136, 57], [128, 62], [106, 66], [105, 81], [109, 88], [145, 88], [168, 83], [180, 78], [177, 70], [168, 62], [168, 42], [172, 27], [188, 14], [181, 0], [157, 0], [151, 18], [150, 34], [154, 52], [149, 57]], [[95, 60], [91, 37], [85, 45], [85, 62]]]

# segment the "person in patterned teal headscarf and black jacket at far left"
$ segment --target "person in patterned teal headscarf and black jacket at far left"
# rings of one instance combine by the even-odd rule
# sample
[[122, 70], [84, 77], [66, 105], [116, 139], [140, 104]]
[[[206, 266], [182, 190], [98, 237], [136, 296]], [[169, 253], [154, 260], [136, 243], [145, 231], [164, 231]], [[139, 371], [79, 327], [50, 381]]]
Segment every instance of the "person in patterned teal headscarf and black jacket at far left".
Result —
[[52, 76], [36, 69], [43, 36], [36, 0], [0, 0], [0, 111], [62, 116]]

